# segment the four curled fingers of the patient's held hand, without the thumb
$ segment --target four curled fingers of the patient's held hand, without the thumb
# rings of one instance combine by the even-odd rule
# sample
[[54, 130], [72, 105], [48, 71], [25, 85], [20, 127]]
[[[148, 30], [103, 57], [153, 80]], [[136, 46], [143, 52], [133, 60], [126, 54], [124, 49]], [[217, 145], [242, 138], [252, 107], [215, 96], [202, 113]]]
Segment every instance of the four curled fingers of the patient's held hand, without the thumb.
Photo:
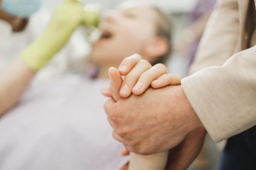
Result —
[[118, 70], [121, 75], [125, 76], [120, 89], [120, 96], [122, 97], [128, 97], [131, 93], [140, 95], [149, 85], [153, 88], [180, 85], [180, 75], [168, 74], [168, 70], [163, 64], [156, 64], [152, 67], [138, 54], [125, 58]]

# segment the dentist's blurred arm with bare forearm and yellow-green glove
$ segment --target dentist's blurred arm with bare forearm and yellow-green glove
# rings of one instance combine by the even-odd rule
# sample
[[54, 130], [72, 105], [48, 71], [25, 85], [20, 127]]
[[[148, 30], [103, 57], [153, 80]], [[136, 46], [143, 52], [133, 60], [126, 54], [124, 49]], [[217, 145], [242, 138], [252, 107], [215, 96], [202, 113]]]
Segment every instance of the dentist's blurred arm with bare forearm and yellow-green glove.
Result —
[[84, 17], [79, 1], [65, 0], [56, 8], [44, 33], [0, 73], [0, 116], [19, 100], [36, 72], [66, 44]]

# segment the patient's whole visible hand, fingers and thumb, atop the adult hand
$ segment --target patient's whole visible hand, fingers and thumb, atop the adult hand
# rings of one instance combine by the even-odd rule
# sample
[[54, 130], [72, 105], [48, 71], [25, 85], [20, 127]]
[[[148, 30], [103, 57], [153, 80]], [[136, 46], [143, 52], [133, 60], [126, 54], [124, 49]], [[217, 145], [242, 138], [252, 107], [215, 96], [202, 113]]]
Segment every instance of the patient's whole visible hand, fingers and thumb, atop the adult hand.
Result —
[[[121, 75], [125, 76], [122, 80]], [[102, 93], [105, 96], [113, 97], [115, 101], [129, 97], [132, 93], [142, 94], [151, 85], [153, 88], [161, 88], [166, 85], [180, 85], [181, 76], [168, 74], [163, 64], [152, 65], [134, 54], [125, 58], [118, 69], [109, 68], [111, 85], [109, 90]]]

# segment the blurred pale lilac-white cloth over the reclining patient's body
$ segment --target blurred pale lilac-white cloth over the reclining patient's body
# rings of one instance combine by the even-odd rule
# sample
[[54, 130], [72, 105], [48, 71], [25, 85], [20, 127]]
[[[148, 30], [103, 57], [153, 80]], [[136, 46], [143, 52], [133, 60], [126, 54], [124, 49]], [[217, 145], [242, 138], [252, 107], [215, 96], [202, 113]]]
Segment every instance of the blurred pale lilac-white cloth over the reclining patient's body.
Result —
[[118, 170], [128, 158], [103, 109], [107, 86], [66, 75], [28, 89], [0, 119], [0, 170]]

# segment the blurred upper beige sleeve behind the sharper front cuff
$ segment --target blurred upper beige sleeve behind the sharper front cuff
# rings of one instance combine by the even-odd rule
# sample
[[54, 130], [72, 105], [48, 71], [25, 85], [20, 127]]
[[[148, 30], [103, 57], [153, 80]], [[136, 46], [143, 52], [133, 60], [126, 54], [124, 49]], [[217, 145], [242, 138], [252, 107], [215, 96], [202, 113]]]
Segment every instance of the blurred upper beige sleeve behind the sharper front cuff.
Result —
[[190, 68], [194, 73], [202, 68], [221, 66], [235, 54], [239, 21], [237, 0], [219, 0], [198, 46], [196, 59]]

